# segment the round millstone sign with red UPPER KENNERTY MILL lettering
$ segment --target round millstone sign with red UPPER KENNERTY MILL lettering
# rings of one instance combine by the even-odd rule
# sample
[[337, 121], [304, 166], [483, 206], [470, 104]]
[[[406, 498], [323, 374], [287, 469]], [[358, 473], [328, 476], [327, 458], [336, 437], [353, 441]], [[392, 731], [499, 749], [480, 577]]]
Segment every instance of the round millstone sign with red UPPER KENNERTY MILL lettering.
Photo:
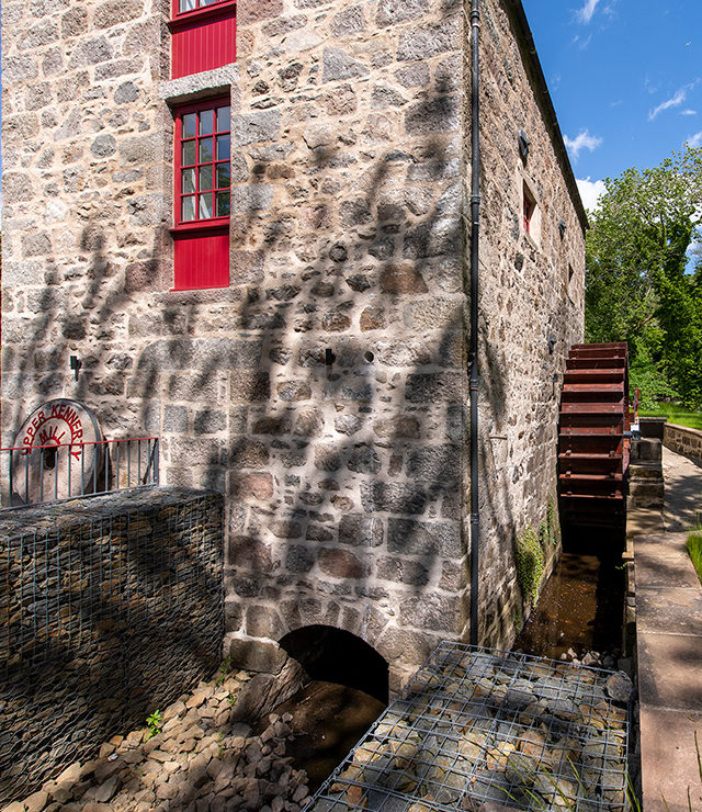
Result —
[[34, 409], [14, 438], [11, 504], [106, 490], [102, 439], [95, 416], [77, 401], [48, 401]]

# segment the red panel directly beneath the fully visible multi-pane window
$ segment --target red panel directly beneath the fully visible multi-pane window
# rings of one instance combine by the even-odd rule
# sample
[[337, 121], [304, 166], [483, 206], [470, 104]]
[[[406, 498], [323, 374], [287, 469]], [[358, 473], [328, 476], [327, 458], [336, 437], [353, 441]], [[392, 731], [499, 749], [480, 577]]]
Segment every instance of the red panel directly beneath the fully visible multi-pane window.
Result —
[[173, 234], [173, 290], [229, 286], [229, 229]]

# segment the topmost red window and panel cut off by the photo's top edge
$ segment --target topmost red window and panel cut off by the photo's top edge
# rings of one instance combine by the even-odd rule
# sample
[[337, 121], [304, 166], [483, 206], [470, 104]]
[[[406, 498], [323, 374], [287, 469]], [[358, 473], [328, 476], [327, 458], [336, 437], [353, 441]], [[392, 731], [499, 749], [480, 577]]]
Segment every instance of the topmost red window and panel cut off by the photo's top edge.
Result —
[[236, 61], [236, 0], [173, 0], [168, 26], [173, 79]]

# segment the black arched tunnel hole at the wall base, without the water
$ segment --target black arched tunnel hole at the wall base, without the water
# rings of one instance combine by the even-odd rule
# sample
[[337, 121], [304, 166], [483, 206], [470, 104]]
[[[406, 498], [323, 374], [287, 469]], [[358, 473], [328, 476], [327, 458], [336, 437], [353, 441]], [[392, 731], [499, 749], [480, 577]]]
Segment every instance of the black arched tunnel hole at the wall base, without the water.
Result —
[[387, 704], [387, 663], [355, 634], [330, 625], [306, 625], [286, 634], [280, 646], [310, 679], [355, 688]]

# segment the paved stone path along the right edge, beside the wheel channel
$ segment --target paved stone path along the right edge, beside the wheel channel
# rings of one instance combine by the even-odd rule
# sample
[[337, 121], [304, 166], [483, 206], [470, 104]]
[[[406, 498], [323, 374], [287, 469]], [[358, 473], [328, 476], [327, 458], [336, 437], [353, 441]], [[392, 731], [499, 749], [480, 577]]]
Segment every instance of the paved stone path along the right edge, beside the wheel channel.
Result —
[[[664, 449], [666, 530], [702, 510], [702, 467]], [[702, 810], [702, 586], [687, 532], [634, 540], [644, 812]]]

